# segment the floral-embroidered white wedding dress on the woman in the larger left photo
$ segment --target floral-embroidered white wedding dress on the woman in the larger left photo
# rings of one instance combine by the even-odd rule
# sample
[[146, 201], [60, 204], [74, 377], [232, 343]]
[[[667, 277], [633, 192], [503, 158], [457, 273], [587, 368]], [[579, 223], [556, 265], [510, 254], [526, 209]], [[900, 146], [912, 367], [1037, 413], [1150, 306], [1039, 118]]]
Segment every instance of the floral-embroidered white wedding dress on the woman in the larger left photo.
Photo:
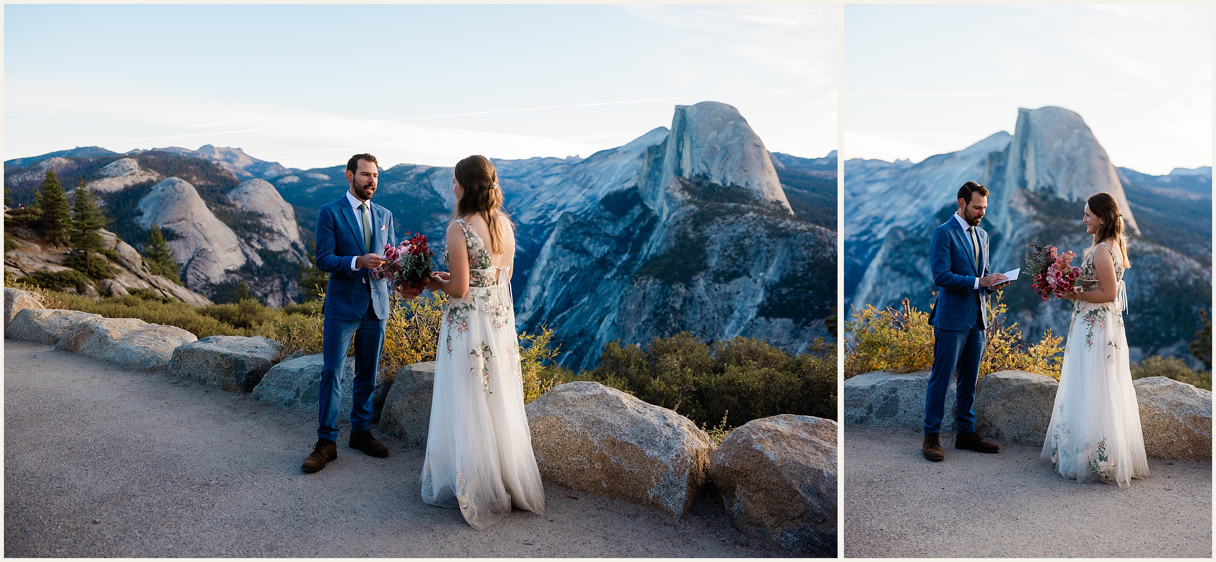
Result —
[[480, 530], [512, 505], [542, 515], [545, 491], [524, 415], [510, 266], [495, 268], [473, 227], [457, 223], [468, 248], [469, 287], [444, 310], [422, 500], [458, 507]]

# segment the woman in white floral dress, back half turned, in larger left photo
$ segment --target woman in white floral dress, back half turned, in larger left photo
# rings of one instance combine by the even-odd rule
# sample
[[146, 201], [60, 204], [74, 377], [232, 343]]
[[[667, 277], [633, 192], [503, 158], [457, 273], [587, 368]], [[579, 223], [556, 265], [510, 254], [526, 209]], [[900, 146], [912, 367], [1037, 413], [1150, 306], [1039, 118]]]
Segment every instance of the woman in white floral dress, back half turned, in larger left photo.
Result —
[[458, 507], [480, 530], [512, 505], [544, 515], [545, 490], [524, 414], [511, 300], [516, 241], [494, 164], [483, 156], [460, 161], [452, 190], [460, 218], [447, 226], [451, 271], [429, 282], [449, 299], [435, 354], [422, 500]]

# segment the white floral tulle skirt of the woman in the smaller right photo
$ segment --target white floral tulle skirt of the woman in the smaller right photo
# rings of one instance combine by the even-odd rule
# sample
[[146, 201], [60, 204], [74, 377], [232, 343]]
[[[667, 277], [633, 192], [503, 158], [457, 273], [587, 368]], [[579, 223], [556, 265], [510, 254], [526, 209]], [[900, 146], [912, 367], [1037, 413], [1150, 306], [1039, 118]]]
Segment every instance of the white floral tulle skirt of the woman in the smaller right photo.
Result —
[[1066, 478], [1128, 488], [1148, 477], [1139, 405], [1114, 303], [1075, 304], [1042, 459]]

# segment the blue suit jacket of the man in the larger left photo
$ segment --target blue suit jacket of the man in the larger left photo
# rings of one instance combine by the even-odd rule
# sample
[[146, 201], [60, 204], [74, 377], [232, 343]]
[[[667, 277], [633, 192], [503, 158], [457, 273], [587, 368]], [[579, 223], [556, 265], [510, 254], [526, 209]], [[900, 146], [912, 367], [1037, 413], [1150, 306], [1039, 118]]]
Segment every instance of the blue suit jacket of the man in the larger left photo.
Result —
[[393, 213], [371, 203], [372, 247], [364, 247], [362, 224], [355, 218], [347, 196], [321, 207], [316, 215], [316, 266], [330, 272], [325, 290], [325, 317], [360, 320], [371, 300], [376, 317], [388, 319], [388, 280], [367, 275], [366, 268], [350, 270], [350, 258], [376, 253], [384, 255], [384, 245], [396, 245]]

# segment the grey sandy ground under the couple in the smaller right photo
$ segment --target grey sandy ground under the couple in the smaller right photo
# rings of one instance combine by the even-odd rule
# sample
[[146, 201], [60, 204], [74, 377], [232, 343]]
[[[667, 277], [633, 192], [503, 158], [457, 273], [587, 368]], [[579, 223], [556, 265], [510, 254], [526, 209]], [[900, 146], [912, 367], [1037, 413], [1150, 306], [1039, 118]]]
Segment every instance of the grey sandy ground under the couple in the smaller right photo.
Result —
[[[1066, 480], [1038, 446], [921, 455], [922, 434], [844, 431], [845, 557], [1203, 557], [1212, 555], [1211, 461], [1149, 459], [1130, 489]], [[1172, 463], [1167, 463], [1172, 462]]]

